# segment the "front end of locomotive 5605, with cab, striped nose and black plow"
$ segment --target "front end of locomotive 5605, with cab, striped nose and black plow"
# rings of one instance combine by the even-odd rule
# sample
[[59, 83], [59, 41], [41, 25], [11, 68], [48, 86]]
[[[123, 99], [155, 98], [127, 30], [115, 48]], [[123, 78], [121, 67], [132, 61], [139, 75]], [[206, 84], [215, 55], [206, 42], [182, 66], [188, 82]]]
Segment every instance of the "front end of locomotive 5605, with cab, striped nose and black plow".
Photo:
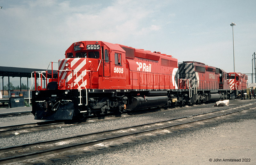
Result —
[[[120, 46], [102, 41], [76, 42], [58, 66], [58, 77], [47, 80], [46, 71], [47, 88], [40, 85], [32, 92], [35, 119], [104, 114], [110, 106], [124, 109], [126, 98], [115, 93], [119, 91], [116, 89], [126, 89], [125, 51]], [[113, 103], [108, 99], [113, 96], [121, 100]]]

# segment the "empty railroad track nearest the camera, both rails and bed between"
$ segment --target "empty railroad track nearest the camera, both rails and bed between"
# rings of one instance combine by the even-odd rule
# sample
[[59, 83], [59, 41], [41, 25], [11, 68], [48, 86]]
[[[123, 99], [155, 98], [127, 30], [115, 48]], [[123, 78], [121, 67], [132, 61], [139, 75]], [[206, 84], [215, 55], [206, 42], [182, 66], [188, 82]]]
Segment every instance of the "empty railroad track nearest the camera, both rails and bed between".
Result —
[[24, 161], [27, 159], [33, 159], [53, 153], [60, 153], [76, 148], [100, 144], [102, 142], [114, 141], [121, 138], [127, 138], [171, 129], [173, 127], [175, 128], [176, 126], [205, 121], [228, 114], [241, 112], [243, 110], [247, 110], [253, 107], [256, 107], [256, 105], [254, 103], [249, 103], [241, 106], [229, 107], [211, 112], [194, 114], [148, 124], [136, 125], [132, 127], [106, 130], [79, 136], [71, 136], [68, 138], [59, 138], [54, 140], [0, 148], [0, 164]]

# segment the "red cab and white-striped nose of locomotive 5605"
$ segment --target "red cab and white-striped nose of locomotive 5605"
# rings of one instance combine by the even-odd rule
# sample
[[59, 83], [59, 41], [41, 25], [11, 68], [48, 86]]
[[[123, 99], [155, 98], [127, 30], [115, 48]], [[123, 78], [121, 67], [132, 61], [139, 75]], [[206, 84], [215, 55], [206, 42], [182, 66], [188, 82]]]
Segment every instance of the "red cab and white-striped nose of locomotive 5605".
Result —
[[[71, 45], [65, 53], [66, 59], [59, 60], [59, 70], [76, 70], [81, 89], [120, 89], [125, 86], [125, 51], [107, 42], [83, 41]], [[64, 62], [62, 62], [64, 60]], [[63, 65], [65, 65], [63, 67]], [[76, 74], [76, 73], [74, 73]], [[76, 75], [74, 75], [76, 76]], [[61, 85], [69, 89], [72, 76], [62, 76]], [[68, 78], [68, 80], [67, 80]], [[75, 77], [76, 79], [76, 77]], [[69, 88], [67, 88], [67, 84]]]

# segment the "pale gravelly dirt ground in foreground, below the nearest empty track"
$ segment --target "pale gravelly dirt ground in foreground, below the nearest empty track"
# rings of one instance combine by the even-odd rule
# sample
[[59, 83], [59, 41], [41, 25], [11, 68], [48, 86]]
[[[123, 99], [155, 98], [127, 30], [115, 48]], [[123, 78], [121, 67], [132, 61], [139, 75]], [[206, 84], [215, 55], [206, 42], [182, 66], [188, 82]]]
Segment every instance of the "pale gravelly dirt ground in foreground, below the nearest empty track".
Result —
[[56, 164], [256, 164], [256, 108], [242, 114]]

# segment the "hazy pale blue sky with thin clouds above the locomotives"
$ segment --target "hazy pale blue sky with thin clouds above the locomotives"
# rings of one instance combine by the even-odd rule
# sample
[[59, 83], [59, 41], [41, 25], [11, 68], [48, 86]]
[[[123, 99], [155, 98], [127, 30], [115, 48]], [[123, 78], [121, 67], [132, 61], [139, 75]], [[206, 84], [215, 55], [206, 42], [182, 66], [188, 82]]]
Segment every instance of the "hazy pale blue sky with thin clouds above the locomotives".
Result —
[[252, 73], [256, 0], [0, 0], [0, 6], [0, 66], [46, 69], [72, 43], [98, 40], [233, 72], [234, 22], [235, 71]]

